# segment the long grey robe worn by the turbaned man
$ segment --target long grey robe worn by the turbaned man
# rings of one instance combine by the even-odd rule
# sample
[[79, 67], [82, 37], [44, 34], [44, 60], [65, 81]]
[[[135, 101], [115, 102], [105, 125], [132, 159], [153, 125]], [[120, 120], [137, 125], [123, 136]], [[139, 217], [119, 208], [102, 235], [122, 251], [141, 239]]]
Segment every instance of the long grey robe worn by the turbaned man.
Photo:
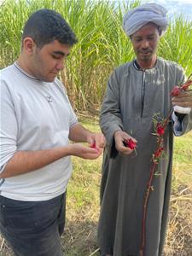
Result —
[[[153, 115], [166, 118], [172, 109], [170, 91], [184, 79], [183, 69], [158, 58], [152, 69], [139, 70], [134, 61], [114, 70], [102, 104], [100, 125], [107, 137], [103, 154], [101, 215], [98, 243], [102, 254], [138, 256], [141, 246], [143, 201], [152, 154], [157, 148]], [[192, 114], [185, 115], [180, 135], [192, 128]], [[114, 131], [121, 129], [137, 139], [137, 155], [118, 154]], [[166, 236], [172, 179], [172, 121], [164, 134], [166, 158], [161, 158], [153, 179], [146, 218], [144, 256], [161, 255]]]

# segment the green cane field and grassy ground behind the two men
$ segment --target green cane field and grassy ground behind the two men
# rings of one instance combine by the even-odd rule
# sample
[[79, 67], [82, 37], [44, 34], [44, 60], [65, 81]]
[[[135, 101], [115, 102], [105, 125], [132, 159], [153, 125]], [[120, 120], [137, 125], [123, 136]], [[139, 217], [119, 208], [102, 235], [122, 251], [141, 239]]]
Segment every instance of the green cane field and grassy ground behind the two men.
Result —
[[[145, 1], [148, 2], [148, 1]], [[22, 26], [33, 11], [55, 9], [79, 38], [67, 58], [60, 79], [79, 120], [99, 131], [98, 113], [109, 74], [134, 58], [131, 43], [122, 30], [126, 10], [144, 1], [5, 0], [0, 3], [0, 68], [11, 64], [20, 52]], [[177, 61], [192, 72], [192, 22], [183, 16], [170, 20], [160, 40], [158, 54]], [[165, 256], [192, 255], [192, 133], [174, 144], [172, 200]], [[102, 157], [95, 161], [73, 157], [73, 177], [67, 189], [67, 226], [62, 236], [66, 256], [98, 256], [96, 224]], [[0, 256], [12, 255], [0, 238]]]

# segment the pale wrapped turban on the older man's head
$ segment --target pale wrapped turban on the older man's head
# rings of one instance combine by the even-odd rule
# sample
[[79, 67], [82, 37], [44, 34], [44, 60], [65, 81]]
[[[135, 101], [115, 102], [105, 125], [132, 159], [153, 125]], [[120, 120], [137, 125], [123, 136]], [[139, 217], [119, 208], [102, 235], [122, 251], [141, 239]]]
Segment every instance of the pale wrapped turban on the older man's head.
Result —
[[131, 9], [124, 16], [124, 31], [127, 36], [131, 36], [148, 22], [153, 22], [160, 27], [162, 35], [166, 32], [166, 27], [168, 26], [166, 13], [167, 10], [157, 3], [146, 3], [135, 9]]

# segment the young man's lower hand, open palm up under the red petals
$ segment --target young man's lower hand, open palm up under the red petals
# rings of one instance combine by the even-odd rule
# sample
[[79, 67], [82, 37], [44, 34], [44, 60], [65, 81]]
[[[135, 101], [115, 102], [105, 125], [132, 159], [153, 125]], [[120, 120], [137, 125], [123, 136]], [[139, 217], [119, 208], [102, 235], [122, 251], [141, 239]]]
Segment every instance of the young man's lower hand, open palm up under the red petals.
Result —
[[78, 156], [87, 160], [95, 160], [102, 154], [101, 148], [85, 147], [80, 143], [68, 145], [68, 155]]

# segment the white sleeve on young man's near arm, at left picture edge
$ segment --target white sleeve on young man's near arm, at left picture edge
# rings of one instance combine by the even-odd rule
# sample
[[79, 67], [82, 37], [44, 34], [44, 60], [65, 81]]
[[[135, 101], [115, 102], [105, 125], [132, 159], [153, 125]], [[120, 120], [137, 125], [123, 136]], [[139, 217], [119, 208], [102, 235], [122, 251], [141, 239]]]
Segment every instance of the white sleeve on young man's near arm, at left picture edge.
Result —
[[8, 85], [0, 80], [0, 172], [17, 150], [18, 125]]

